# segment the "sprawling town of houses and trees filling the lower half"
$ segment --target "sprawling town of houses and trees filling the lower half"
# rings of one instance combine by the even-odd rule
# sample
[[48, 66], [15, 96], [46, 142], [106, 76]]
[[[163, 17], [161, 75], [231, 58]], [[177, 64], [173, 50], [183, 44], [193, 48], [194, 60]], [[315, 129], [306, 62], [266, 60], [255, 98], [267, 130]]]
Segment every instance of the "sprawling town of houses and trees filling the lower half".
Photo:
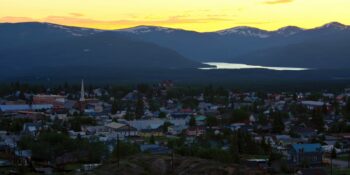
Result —
[[350, 174], [346, 87], [82, 81], [12, 83], [0, 95], [0, 174]]

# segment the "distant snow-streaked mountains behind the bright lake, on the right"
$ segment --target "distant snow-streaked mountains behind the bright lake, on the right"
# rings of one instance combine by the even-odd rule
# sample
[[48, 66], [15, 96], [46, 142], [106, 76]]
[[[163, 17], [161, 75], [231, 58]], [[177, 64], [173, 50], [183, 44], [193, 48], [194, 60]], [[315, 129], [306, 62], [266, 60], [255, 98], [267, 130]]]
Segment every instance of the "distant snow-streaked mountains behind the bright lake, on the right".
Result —
[[350, 27], [332, 22], [313, 29], [287, 26], [276, 31], [252, 27], [198, 33], [139, 26], [118, 33], [171, 48], [196, 61], [264, 66], [347, 68]]

